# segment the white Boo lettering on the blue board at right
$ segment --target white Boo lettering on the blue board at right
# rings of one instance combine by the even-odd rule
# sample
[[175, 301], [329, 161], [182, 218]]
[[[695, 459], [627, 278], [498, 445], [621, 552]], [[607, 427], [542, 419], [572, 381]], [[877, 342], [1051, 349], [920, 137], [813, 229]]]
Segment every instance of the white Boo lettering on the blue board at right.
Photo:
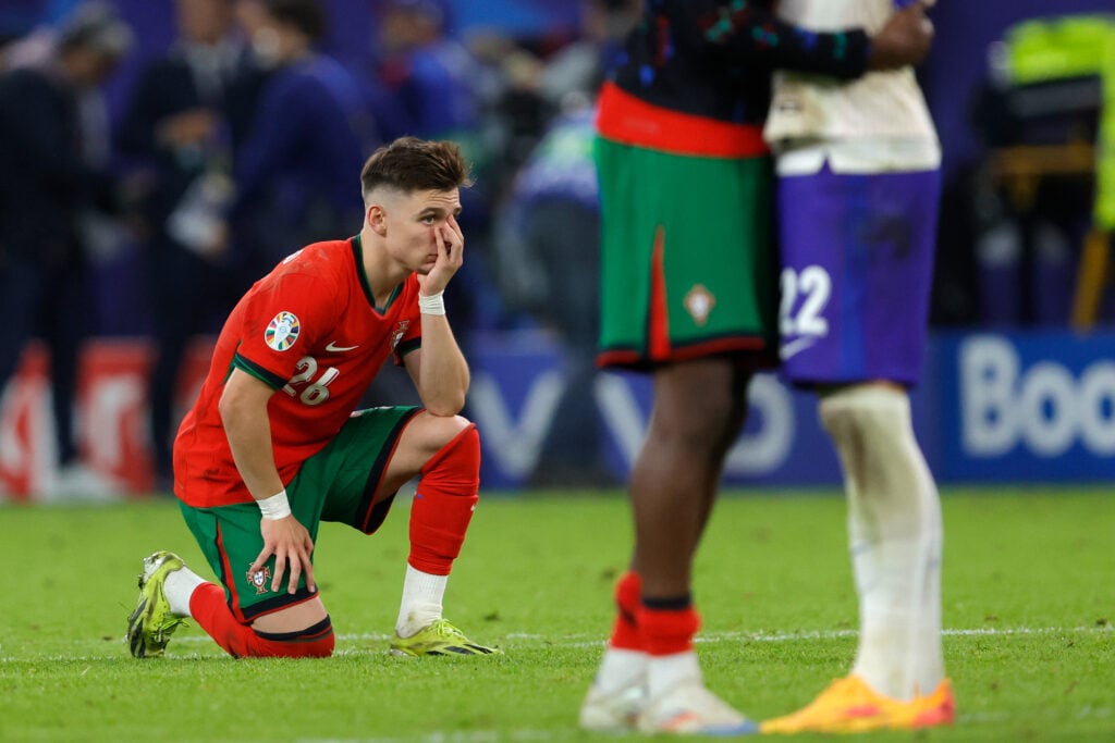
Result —
[[1021, 444], [1041, 458], [1076, 443], [1097, 457], [1115, 454], [1115, 362], [1079, 371], [1053, 359], [1024, 365], [1001, 336], [976, 335], [958, 354], [963, 449], [999, 457]]

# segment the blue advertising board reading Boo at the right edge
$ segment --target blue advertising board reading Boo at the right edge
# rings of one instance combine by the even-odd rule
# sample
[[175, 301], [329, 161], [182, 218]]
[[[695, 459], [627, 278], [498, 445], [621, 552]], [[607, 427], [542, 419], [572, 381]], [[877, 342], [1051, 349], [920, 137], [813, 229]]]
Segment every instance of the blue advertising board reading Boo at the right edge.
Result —
[[931, 358], [942, 479], [1115, 479], [1115, 334], [943, 334]]

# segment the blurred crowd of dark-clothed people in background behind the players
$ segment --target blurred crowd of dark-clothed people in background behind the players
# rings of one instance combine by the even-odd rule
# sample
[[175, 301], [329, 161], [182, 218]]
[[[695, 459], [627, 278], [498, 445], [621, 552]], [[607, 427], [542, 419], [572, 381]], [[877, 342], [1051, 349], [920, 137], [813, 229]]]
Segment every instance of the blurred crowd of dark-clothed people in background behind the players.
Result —
[[[938, 39], [919, 74], [946, 153], [935, 324], [1090, 326], [1109, 316], [1103, 282], [1083, 309], [1079, 289], [1115, 74], [1085, 60], [1019, 79], [1017, 63], [1035, 35], [1038, 51], [1057, 35], [1115, 36], [1098, 14], [1108, 3], [941, 0], [933, 10]], [[463, 344], [547, 329], [568, 373], [588, 379], [593, 98], [638, 7], [4, 0], [0, 312], [10, 343], [0, 387], [23, 342], [41, 338], [65, 469], [77, 456], [68, 411], [83, 340], [149, 339], [153, 459], [165, 481], [186, 340], [214, 332], [287, 254], [356, 233], [360, 166], [404, 134], [454, 139], [474, 164], [462, 219], [468, 260], [448, 297]], [[1079, 22], [1041, 25], [1064, 17]], [[1115, 59], [1115, 42], [1105, 53]], [[399, 394], [372, 391], [406, 402]], [[570, 462], [595, 476], [599, 448], [575, 423], [591, 404], [583, 394], [562, 404], [574, 421], [554, 449], [565, 459], [539, 481], [569, 478]]]

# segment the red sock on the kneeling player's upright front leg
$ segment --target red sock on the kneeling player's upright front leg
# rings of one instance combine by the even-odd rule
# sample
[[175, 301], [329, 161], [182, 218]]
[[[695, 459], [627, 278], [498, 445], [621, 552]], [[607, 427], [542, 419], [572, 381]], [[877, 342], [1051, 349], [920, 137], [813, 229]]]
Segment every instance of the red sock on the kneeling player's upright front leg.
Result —
[[469, 424], [421, 468], [410, 506], [411, 567], [449, 575], [479, 500], [479, 487], [481, 437]]

